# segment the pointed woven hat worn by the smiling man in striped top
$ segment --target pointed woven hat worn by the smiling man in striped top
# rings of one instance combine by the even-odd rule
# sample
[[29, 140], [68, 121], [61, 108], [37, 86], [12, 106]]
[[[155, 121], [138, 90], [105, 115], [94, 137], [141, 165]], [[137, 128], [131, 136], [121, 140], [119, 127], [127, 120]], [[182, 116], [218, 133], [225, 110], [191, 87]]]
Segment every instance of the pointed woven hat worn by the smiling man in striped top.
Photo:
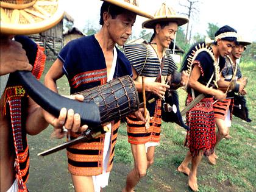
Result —
[[188, 17], [183, 15], [177, 15], [176, 12], [163, 3], [160, 9], [155, 12], [154, 19], [146, 20], [143, 22], [142, 27], [148, 29], [154, 29], [155, 24], [161, 21], [175, 21], [178, 26], [188, 23]]

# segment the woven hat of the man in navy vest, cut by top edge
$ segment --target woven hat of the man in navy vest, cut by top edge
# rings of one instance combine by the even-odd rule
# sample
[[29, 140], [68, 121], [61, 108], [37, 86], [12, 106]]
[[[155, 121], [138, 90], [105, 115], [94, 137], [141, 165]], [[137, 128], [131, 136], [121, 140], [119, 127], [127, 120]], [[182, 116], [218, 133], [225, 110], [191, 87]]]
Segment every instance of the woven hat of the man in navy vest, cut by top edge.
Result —
[[101, 0], [109, 2], [110, 4], [117, 5], [123, 9], [127, 9], [130, 12], [136, 13], [137, 15], [144, 16], [146, 18], [154, 18], [153, 15], [144, 12], [138, 7], [138, 0]]

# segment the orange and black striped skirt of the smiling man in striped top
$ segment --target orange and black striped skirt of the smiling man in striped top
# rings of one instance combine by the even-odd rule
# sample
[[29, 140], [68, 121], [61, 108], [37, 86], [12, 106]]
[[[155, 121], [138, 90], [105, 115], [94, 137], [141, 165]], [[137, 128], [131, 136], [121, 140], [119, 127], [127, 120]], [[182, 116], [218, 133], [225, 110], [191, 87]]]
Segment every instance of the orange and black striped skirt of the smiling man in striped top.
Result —
[[132, 144], [144, 144], [149, 141], [159, 142], [161, 132], [161, 100], [156, 101], [155, 113], [150, 121], [150, 127], [146, 131], [145, 123], [138, 121], [134, 115], [129, 115], [127, 119], [128, 141]]

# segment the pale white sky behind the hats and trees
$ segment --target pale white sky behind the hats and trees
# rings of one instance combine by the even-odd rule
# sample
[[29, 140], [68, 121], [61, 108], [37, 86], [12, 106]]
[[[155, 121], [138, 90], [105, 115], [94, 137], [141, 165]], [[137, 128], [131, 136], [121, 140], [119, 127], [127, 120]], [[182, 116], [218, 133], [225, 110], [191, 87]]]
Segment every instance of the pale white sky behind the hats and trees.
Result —
[[[84, 29], [85, 25], [90, 22], [91, 25], [99, 28], [99, 13], [102, 1], [100, 0], [62, 0], [66, 12], [74, 18], [74, 26], [78, 29]], [[229, 25], [236, 29], [247, 40], [256, 41], [256, 1], [254, 0], [197, 0], [196, 13], [190, 20], [193, 24], [192, 33], [206, 35], [207, 23], [217, 24], [219, 27]], [[186, 0], [139, 0], [139, 7], [146, 12], [154, 15], [155, 11], [160, 8], [161, 4], [166, 2], [176, 13], [186, 12], [181, 4], [186, 4]], [[141, 23], [146, 20], [137, 16], [133, 26], [133, 35], [137, 37], [140, 34]], [[186, 25], [183, 26], [187, 29]], [[148, 29], [148, 32], [152, 30]]]

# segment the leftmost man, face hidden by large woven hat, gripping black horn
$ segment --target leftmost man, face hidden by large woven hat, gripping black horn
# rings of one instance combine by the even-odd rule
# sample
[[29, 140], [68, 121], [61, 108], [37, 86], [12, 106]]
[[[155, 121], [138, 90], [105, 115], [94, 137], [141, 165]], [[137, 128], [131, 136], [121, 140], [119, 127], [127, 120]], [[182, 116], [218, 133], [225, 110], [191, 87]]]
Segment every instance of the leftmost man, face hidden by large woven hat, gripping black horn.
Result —
[[[80, 127], [80, 118], [74, 119], [70, 114], [72, 110], [67, 113], [63, 108], [59, 118], [44, 112], [43, 108], [29, 97], [13, 74], [15, 71], [26, 70], [32, 71], [37, 79], [40, 78], [46, 56], [40, 46], [21, 34], [43, 32], [62, 19], [63, 11], [59, 9], [57, 0], [54, 5], [48, 2], [49, 5], [40, 5], [38, 8], [51, 11], [51, 14], [48, 13], [49, 18], [42, 16], [42, 13], [35, 9], [38, 6], [37, 3], [38, 1], [1, 1], [0, 191], [28, 191], [26, 187], [29, 178], [27, 134], [36, 135], [46, 129], [49, 123], [56, 128], [63, 127], [64, 124], [73, 124], [75, 130]], [[21, 15], [27, 17], [24, 18]], [[27, 18], [33, 18], [34, 22], [29, 23]], [[11, 40], [17, 34], [20, 35], [15, 36], [15, 41]], [[84, 98], [80, 96], [80, 99]]]

